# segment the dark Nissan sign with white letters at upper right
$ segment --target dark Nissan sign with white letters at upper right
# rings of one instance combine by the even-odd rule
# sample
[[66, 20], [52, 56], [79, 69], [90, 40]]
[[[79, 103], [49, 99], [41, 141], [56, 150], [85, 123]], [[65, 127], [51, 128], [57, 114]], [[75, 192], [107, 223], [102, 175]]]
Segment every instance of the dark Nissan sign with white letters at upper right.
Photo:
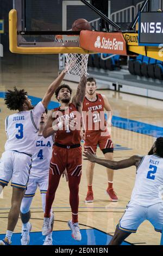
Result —
[[139, 45], [158, 46], [163, 43], [163, 12], [140, 13]]

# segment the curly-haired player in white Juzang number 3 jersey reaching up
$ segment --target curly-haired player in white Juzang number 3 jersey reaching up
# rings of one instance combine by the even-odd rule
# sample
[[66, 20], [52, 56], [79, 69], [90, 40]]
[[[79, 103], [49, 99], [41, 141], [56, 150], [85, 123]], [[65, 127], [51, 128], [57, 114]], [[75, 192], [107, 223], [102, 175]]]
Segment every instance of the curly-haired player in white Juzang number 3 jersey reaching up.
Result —
[[11, 180], [12, 199], [7, 233], [5, 238], [0, 241], [0, 245], [11, 243], [12, 233], [20, 214], [22, 198], [28, 184], [41, 114], [47, 108], [65, 74], [66, 70], [63, 70], [48, 87], [42, 101], [35, 107], [28, 99], [27, 92], [17, 90], [16, 87], [13, 91], [9, 90], [5, 96], [7, 107], [10, 110], [18, 110], [18, 112], [5, 119], [5, 131], [8, 139], [0, 161], [0, 193]]

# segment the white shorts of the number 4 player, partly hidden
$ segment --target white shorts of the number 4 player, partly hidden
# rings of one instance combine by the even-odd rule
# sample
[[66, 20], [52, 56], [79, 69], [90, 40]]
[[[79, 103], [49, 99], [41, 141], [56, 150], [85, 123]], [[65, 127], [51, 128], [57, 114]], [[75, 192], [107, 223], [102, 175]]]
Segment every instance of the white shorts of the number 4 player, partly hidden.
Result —
[[29, 176], [28, 186], [24, 197], [34, 197], [37, 187], [40, 188], [41, 194], [46, 194], [48, 190], [49, 175], [44, 175], [40, 178], [33, 178]]

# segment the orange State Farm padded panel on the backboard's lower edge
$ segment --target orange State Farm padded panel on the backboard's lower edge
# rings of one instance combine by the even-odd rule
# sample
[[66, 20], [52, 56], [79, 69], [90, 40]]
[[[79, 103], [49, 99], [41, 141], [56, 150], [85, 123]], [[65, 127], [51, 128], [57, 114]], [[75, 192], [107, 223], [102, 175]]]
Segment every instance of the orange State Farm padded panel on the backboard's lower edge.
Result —
[[80, 47], [92, 52], [127, 55], [126, 40], [121, 32], [81, 31]]

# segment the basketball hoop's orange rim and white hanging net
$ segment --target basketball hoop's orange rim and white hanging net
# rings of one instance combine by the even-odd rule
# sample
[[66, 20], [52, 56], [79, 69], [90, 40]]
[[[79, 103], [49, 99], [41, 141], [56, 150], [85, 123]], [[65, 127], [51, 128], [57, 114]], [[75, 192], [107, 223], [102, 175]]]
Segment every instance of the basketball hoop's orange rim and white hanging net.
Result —
[[[63, 46], [67, 46], [70, 42], [78, 42], [78, 35], [56, 35], [55, 40], [62, 42]], [[80, 76], [87, 75], [87, 62], [89, 54], [66, 53], [67, 73], [70, 75]]]

